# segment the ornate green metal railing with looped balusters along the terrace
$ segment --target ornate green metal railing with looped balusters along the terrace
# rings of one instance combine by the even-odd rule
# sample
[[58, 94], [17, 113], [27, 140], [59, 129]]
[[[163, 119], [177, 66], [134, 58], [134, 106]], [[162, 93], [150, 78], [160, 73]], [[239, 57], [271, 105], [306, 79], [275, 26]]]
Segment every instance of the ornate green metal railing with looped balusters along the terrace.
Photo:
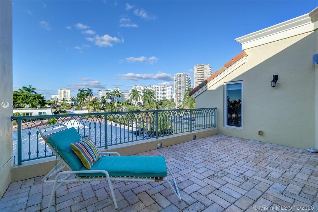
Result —
[[[64, 123], [97, 147], [134, 142], [215, 127], [216, 108], [142, 110], [42, 116], [13, 116], [13, 154], [17, 164], [53, 156], [39, 135], [42, 127]], [[105, 124], [106, 123], [106, 124]]]

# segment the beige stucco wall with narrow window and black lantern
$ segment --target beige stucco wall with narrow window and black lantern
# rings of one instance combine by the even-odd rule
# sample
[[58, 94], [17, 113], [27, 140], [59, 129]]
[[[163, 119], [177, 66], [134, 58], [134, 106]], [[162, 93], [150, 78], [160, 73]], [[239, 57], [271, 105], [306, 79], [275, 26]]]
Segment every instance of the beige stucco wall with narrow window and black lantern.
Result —
[[[315, 147], [316, 42], [315, 32], [308, 32], [245, 49], [246, 63], [198, 95], [196, 107], [218, 108], [216, 126], [221, 134], [301, 149]], [[273, 74], [278, 74], [275, 88], [270, 84]], [[224, 83], [230, 81], [243, 81], [242, 130], [224, 127]]]

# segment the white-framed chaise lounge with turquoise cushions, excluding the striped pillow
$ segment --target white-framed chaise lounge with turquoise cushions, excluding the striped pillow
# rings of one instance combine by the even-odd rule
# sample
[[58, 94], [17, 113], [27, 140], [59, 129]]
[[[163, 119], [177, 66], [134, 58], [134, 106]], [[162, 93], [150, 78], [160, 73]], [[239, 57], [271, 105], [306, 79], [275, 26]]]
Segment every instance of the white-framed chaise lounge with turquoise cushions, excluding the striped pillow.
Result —
[[[54, 124], [41, 128], [40, 135], [56, 155], [56, 158], [59, 159], [56, 166], [42, 179], [45, 183], [53, 183], [47, 208], [48, 212], [50, 211], [55, 191], [63, 182], [108, 181], [116, 209], [118, 206], [113, 191], [116, 181], [166, 181], [178, 200], [181, 201], [176, 180], [166, 165], [163, 156], [120, 156], [118, 152], [100, 152], [101, 158], [96, 161], [91, 169], [87, 169], [73, 153], [70, 146], [71, 143], [78, 142], [81, 139], [75, 128], [68, 129], [64, 124]], [[175, 189], [167, 179], [167, 170], [173, 179]], [[50, 180], [55, 174], [55, 179]], [[66, 174], [66, 177], [59, 179], [61, 174]]]

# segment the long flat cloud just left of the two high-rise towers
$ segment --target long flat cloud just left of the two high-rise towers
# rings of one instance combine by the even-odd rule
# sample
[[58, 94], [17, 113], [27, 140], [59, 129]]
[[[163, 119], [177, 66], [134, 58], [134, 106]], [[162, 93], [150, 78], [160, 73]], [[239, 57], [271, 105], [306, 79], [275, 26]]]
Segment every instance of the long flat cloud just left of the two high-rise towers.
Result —
[[173, 77], [171, 74], [158, 72], [156, 75], [154, 74], [134, 74], [134, 73], [127, 73], [127, 74], [118, 74], [121, 76], [122, 80], [164, 80], [164, 81], [172, 81]]

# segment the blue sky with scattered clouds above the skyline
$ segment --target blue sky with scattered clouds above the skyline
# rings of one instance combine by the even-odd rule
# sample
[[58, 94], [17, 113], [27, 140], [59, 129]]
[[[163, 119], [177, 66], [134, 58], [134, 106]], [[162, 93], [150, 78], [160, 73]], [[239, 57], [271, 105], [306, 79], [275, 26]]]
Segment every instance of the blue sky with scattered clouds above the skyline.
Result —
[[242, 51], [234, 39], [316, 1], [13, 1], [13, 88], [173, 86], [173, 75]]

